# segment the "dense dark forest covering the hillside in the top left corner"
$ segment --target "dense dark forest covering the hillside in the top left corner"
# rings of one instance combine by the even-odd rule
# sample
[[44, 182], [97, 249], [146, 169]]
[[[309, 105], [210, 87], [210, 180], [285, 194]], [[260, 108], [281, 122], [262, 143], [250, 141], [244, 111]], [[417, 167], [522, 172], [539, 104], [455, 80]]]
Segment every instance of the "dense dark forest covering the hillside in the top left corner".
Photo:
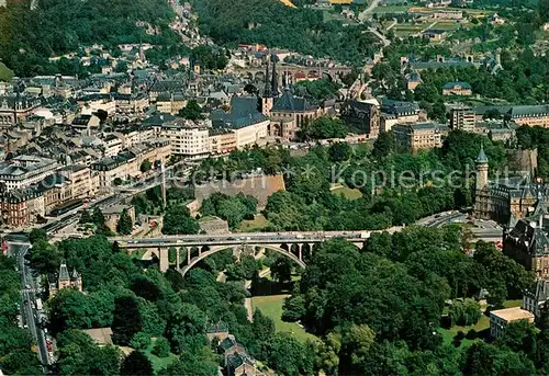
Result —
[[[94, 43], [150, 42], [165, 46], [179, 42], [168, 27], [173, 14], [164, 0], [8, 0], [0, 7], [0, 59], [19, 76], [55, 73], [47, 58], [78, 52]], [[159, 36], [146, 35], [136, 21], [161, 27]]]

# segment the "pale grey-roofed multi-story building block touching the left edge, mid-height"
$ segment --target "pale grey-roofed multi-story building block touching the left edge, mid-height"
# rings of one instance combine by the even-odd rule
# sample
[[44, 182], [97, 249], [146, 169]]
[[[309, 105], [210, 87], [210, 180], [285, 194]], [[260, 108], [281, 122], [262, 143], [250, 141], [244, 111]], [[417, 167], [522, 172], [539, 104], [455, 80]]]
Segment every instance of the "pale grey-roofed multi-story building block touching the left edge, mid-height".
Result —
[[57, 161], [35, 156], [18, 156], [0, 162], [0, 184], [8, 190], [38, 183], [59, 168]]

